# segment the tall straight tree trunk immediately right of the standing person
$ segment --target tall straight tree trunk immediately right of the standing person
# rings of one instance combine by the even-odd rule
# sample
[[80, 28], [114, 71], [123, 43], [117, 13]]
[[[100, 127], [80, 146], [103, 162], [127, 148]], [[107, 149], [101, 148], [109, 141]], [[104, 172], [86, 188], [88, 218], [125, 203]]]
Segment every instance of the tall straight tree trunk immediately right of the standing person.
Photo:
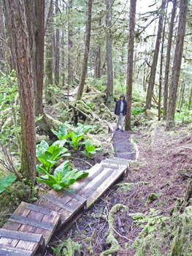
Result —
[[130, 1], [130, 10], [129, 10], [128, 61], [127, 61], [127, 77], [126, 77], [126, 99], [127, 99], [126, 131], [131, 130], [131, 101], [132, 101], [132, 83], [133, 83], [134, 26], [135, 26], [136, 2], [137, 0]]

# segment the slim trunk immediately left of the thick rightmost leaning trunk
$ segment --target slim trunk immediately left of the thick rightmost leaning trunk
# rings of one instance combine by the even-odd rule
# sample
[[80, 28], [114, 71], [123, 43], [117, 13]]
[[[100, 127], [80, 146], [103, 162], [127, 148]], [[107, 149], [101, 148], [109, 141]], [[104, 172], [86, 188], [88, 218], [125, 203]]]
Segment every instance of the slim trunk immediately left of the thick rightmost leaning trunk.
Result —
[[171, 55], [171, 48], [172, 48], [172, 35], [173, 35], [173, 28], [174, 28], [174, 16], [177, 7], [177, 0], [173, 0], [173, 7], [172, 7], [172, 18], [169, 25], [169, 36], [167, 42], [167, 50], [166, 50], [166, 64], [165, 64], [165, 78], [164, 78], [164, 115], [163, 119], [166, 120], [167, 114], [167, 99], [168, 99], [168, 83], [169, 83], [169, 63], [170, 63], [170, 55]]

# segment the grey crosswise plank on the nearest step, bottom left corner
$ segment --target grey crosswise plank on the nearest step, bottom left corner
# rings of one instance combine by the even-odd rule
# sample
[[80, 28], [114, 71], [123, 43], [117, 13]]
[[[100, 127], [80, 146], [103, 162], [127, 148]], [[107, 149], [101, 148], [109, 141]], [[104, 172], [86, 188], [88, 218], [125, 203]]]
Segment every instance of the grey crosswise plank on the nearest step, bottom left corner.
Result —
[[5, 230], [4, 228], [0, 229], [0, 236], [4, 238], [32, 241], [37, 243], [39, 243], [39, 241], [42, 239], [41, 235]]

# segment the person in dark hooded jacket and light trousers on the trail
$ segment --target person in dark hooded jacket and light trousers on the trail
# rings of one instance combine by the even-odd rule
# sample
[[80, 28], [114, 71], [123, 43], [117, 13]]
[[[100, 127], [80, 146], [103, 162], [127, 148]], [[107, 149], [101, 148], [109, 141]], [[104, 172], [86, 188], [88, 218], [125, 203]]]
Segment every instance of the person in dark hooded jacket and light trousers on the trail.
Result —
[[118, 99], [115, 105], [115, 115], [117, 117], [116, 130], [119, 129], [119, 121], [120, 121], [120, 126], [121, 126], [120, 131], [123, 132], [123, 122], [126, 117], [126, 113], [127, 113], [127, 102], [126, 102], [125, 96], [121, 94], [120, 99]]

